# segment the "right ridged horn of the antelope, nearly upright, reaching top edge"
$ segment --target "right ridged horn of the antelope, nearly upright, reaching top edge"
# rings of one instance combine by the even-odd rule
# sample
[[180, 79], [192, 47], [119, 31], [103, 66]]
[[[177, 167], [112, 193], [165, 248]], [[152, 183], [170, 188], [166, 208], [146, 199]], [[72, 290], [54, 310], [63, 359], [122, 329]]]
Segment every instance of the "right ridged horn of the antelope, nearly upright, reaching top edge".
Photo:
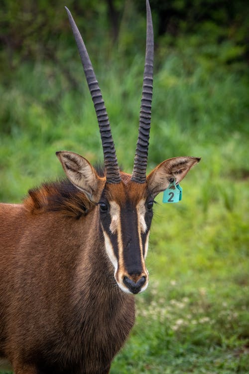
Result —
[[149, 1], [146, 0], [147, 31], [146, 31], [146, 53], [143, 73], [142, 100], [139, 116], [139, 131], [136, 143], [131, 180], [136, 183], [145, 183], [146, 167], [149, 146], [149, 130], [151, 119], [151, 101], [153, 89], [153, 59], [154, 59], [154, 36]]

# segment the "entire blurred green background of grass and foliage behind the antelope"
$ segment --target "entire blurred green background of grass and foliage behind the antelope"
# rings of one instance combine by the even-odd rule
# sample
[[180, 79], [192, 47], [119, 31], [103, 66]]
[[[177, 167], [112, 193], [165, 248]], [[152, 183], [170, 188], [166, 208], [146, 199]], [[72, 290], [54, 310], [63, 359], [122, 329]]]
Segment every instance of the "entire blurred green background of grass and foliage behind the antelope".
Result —
[[[150, 286], [138, 295], [137, 324], [111, 373], [246, 374], [249, 3], [150, 4], [155, 74], [148, 172], [169, 157], [202, 161], [183, 181], [181, 203], [155, 207]], [[118, 160], [132, 170], [145, 0], [1, 0], [1, 201], [20, 202], [30, 187], [62, 175], [57, 150], [91, 163], [103, 159], [64, 5], [93, 61]]]

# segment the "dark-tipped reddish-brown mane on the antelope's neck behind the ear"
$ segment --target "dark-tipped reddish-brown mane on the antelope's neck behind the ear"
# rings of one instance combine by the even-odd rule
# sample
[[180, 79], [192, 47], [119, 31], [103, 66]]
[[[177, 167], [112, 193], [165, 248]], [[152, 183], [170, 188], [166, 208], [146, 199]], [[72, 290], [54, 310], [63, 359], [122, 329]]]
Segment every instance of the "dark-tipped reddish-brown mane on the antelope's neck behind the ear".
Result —
[[68, 179], [43, 183], [40, 187], [30, 189], [23, 204], [32, 214], [54, 211], [76, 219], [95, 206]]

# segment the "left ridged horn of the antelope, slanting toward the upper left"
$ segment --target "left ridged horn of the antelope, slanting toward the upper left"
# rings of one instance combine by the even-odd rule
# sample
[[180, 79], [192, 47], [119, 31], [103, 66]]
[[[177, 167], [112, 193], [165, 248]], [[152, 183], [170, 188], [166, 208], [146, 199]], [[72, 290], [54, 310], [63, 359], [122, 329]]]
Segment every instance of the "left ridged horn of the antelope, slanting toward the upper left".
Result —
[[95, 111], [100, 128], [100, 135], [102, 141], [102, 147], [104, 151], [104, 164], [106, 169], [107, 183], [119, 183], [121, 182], [119, 165], [117, 162], [116, 151], [114, 141], [112, 137], [110, 122], [105, 107], [105, 103], [102, 97], [102, 93], [99, 87], [99, 83], [96, 79], [94, 69], [87, 53], [86, 46], [81, 37], [81, 34], [76, 26], [76, 23], [70, 13], [69, 9], [65, 6], [69, 22], [71, 24], [73, 34], [80, 52], [81, 62], [84, 68], [84, 72], [87, 78], [87, 83], [91, 96], [94, 102]]

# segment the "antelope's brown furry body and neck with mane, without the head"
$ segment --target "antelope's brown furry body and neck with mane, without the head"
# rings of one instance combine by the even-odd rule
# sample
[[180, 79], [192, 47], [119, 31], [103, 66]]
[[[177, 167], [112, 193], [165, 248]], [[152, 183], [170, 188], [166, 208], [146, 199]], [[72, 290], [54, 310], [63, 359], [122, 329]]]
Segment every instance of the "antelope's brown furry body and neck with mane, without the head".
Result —
[[99, 206], [67, 183], [0, 204], [0, 357], [15, 374], [108, 373], [134, 323]]

